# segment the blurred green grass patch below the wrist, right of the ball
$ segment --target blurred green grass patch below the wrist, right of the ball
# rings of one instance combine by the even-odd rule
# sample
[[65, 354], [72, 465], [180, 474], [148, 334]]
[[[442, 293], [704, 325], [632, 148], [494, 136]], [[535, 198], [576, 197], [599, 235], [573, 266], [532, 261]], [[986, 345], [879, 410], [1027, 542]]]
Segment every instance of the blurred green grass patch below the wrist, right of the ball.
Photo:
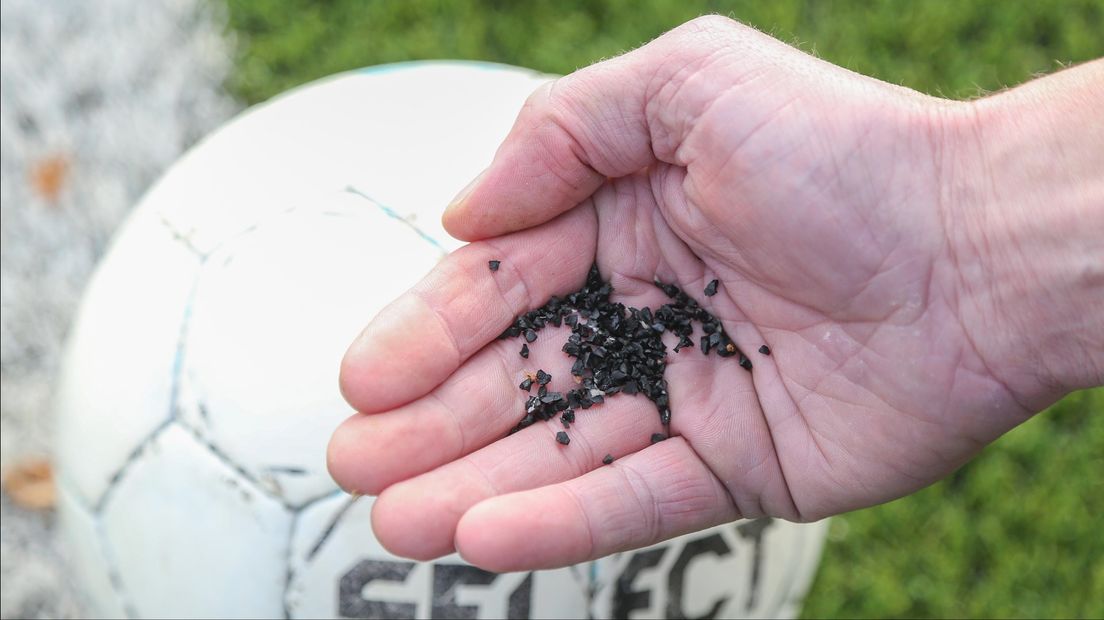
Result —
[[837, 517], [805, 614], [1104, 616], [1104, 389], [1072, 394], [951, 478]]

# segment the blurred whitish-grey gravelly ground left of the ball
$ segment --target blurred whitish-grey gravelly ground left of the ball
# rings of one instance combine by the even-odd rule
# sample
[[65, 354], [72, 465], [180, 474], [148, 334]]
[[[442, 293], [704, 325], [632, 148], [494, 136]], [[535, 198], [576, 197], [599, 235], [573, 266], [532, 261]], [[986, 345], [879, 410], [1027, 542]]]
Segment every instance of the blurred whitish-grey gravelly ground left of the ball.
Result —
[[[208, 0], [0, 2], [0, 467], [50, 453], [66, 328], [128, 210], [229, 118]], [[0, 501], [0, 617], [81, 614], [50, 511]]]

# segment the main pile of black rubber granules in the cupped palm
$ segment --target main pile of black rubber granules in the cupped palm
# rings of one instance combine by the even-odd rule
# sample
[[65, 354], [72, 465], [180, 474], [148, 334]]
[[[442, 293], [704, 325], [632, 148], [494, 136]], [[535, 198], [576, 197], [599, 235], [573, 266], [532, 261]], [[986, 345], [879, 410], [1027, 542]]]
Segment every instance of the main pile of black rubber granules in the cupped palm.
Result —
[[[588, 409], [602, 404], [607, 396], [625, 393], [647, 396], [655, 403], [660, 423], [670, 424], [670, 397], [664, 377], [667, 345], [661, 336], [665, 332], [678, 336], [676, 353], [693, 349], [694, 323], [701, 325], [699, 343], [703, 354], [715, 351], [721, 357], [740, 355], [740, 365], [751, 370], [751, 362], [732, 342], [716, 317], [679, 287], [659, 280], [656, 286], [671, 299], [669, 303], [656, 310], [626, 307], [609, 300], [613, 287], [602, 279], [597, 266], [592, 266], [583, 288], [564, 297], [553, 297], [544, 306], [514, 319], [499, 338], [523, 335], [531, 343], [545, 325], [571, 328], [563, 352], [575, 359], [571, 374], [578, 384], [563, 394], [539, 389], [538, 396], [526, 404], [522, 423], [549, 420], [565, 409]], [[714, 280], [707, 287], [707, 293], [710, 289], [715, 292], [715, 288]], [[552, 376], [538, 371], [533, 378], [544, 387]], [[529, 424], [532, 423], [524, 426]], [[524, 426], [519, 423], [511, 432]]]

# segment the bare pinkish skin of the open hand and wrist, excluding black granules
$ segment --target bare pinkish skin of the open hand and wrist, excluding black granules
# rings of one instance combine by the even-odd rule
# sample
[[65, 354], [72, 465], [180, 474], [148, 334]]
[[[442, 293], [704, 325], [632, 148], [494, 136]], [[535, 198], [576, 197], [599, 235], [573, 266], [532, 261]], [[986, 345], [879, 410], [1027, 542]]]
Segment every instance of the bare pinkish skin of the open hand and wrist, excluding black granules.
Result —
[[[330, 472], [379, 494], [393, 553], [498, 571], [931, 484], [1104, 383], [1102, 100], [1102, 61], [948, 101], [718, 17], [558, 79], [446, 212], [474, 243], [349, 349], [359, 413]], [[529, 360], [496, 336], [593, 261], [626, 304], [662, 304], [656, 277], [678, 284], [754, 372], [669, 353], [671, 438], [656, 445], [640, 396], [578, 411], [567, 447], [559, 421], [503, 437], [523, 372], [570, 388], [571, 359], [562, 331]]]

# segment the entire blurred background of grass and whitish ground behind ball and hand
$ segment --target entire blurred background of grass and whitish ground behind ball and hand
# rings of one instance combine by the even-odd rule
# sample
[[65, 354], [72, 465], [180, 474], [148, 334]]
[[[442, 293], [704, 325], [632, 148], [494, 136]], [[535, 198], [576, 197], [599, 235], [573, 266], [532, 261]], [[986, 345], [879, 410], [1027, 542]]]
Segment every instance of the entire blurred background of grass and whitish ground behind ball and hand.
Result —
[[[1104, 1], [0, 2], [0, 616], [79, 616], [53, 539], [61, 343], [149, 184], [245, 106], [336, 72], [473, 58], [569, 73], [702, 13], [830, 62], [970, 98], [1104, 55]], [[1104, 389], [949, 479], [837, 517], [806, 617], [1104, 616]]]

